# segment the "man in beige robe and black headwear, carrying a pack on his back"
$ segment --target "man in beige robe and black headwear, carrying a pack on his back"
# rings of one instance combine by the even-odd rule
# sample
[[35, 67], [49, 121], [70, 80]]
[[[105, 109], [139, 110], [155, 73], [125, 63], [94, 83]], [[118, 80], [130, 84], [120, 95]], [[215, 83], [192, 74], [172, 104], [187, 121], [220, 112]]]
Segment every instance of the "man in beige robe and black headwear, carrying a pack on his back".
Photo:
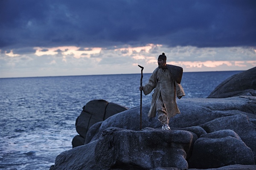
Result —
[[158, 113], [158, 120], [163, 125], [162, 129], [170, 130], [169, 119], [180, 110], [176, 103], [176, 96], [181, 99], [185, 96], [184, 90], [180, 85], [183, 68], [175, 65], [166, 64], [166, 56], [163, 53], [158, 57], [158, 68], [154, 70], [148, 83], [140, 87], [145, 95], [154, 90], [151, 108], [148, 113], [150, 120]]

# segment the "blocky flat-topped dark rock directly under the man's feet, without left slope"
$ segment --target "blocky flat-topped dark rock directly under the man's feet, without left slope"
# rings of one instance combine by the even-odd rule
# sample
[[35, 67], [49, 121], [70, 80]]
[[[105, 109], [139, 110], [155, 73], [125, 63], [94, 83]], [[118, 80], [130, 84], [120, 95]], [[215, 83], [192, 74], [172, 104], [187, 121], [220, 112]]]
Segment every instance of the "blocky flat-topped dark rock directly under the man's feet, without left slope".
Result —
[[[155, 136], [155, 137], [154, 137]], [[186, 153], [192, 133], [184, 130], [125, 130], [110, 127], [103, 131], [95, 150], [97, 165], [122, 170], [148, 170], [154, 167], [188, 168]]]

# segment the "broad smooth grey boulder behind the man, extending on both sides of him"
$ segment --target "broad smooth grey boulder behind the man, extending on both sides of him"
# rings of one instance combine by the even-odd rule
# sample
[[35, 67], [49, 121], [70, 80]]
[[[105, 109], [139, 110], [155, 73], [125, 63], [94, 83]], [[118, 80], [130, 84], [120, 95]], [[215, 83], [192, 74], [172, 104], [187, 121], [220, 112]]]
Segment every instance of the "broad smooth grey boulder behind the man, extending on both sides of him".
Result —
[[[218, 130], [230, 129], [235, 131], [243, 142], [256, 153], [255, 124], [256, 104], [251, 103], [252, 108], [245, 107], [251, 99], [232, 97], [225, 99], [183, 99], [178, 100], [181, 114], [170, 119], [169, 125], [172, 129], [182, 129], [195, 132], [198, 137]], [[143, 105], [143, 128], [160, 128], [157, 119], [148, 122], [147, 113], [150, 103]], [[120, 127], [124, 129], [139, 130], [140, 128], [140, 107], [127, 110], [118, 115], [111, 116], [99, 127], [99, 132], [91, 138], [99, 139], [102, 131], [108, 127]], [[234, 116], [234, 117], [232, 117]], [[235, 119], [235, 117], [237, 119]], [[125, 121], [123, 121], [125, 120]], [[222, 121], [221, 121], [222, 120]], [[216, 129], [209, 130], [209, 125], [215, 125]], [[198, 128], [201, 127], [201, 128]], [[233, 126], [233, 127], [232, 127]], [[90, 131], [90, 130], [89, 130]], [[198, 131], [198, 132], [196, 132]], [[206, 132], [205, 132], [206, 131]], [[87, 143], [90, 141], [87, 141]]]

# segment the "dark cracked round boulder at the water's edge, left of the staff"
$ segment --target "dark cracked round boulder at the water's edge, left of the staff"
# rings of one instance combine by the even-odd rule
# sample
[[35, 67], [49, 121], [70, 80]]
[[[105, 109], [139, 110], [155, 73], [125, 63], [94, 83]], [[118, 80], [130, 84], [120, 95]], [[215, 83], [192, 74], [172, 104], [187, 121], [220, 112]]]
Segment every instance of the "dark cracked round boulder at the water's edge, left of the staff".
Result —
[[107, 102], [106, 100], [91, 100], [88, 102], [76, 119], [76, 131], [79, 135], [76, 135], [72, 140], [73, 148], [84, 144], [86, 133], [92, 125], [127, 109], [124, 106]]

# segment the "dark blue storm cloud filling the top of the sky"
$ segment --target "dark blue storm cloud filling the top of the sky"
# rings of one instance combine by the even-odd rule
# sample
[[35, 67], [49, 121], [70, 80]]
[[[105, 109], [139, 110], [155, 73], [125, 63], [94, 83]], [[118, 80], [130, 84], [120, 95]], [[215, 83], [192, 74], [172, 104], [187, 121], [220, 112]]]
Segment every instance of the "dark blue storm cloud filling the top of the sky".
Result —
[[1, 0], [0, 48], [256, 45], [255, 0]]

